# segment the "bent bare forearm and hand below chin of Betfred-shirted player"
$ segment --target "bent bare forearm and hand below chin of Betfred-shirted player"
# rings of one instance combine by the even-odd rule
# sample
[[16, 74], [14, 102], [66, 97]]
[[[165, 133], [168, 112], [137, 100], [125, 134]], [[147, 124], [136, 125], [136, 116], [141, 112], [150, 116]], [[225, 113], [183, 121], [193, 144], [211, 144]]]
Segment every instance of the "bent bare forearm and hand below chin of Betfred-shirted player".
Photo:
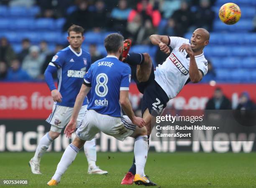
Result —
[[191, 46], [189, 44], [182, 44], [179, 47], [179, 51], [186, 50], [186, 52], [189, 55], [190, 61], [189, 61], [189, 78], [191, 80], [192, 83], [197, 83], [200, 82], [200, 80], [202, 80], [202, 73], [200, 72], [200, 70], [198, 70], [197, 67], [197, 63], [195, 60], [195, 55], [193, 50], [191, 49]]

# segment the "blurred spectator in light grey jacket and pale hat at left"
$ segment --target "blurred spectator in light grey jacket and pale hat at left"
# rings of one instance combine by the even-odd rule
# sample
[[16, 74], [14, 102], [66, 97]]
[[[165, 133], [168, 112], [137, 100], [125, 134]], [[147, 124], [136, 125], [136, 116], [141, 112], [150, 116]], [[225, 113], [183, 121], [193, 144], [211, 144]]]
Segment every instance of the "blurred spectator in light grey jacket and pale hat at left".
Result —
[[41, 78], [41, 67], [44, 64], [45, 56], [41, 55], [38, 46], [31, 46], [29, 54], [24, 58], [22, 68], [27, 71], [33, 79]]

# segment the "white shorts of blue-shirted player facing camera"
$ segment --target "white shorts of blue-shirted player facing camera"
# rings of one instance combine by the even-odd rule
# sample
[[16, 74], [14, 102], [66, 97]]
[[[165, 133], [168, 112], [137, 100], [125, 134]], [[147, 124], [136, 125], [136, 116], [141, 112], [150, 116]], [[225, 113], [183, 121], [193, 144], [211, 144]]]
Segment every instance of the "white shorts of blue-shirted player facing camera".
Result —
[[[72, 107], [53, 105], [52, 113], [46, 119], [46, 122], [51, 124], [51, 131], [61, 133], [61, 130], [69, 123], [73, 113]], [[84, 115], [87, 112], [87, 105], [82, 106], [77, 117], [77, 126], [82, 123]]]

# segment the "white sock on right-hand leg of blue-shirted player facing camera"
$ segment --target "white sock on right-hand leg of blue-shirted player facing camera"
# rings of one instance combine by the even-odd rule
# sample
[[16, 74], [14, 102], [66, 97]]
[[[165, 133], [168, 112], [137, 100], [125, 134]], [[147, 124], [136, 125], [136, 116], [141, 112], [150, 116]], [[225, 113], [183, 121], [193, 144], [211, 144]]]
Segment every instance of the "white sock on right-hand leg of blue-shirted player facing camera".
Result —
[[96, 168], [96, 140], [93, 138], [90, 141], [86, 141], [84, 144], [84, 153], [86, 155], [88, 165], [90, 168]]

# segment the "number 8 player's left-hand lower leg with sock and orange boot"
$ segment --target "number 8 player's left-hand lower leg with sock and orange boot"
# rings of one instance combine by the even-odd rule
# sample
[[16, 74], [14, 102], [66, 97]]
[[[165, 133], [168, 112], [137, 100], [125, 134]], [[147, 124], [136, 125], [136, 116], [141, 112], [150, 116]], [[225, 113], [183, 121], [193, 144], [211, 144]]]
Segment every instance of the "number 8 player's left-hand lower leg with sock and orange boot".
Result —
[[64, 174], [64, 172], [67, 170], [69, 165], [74, 161], [74, 159], [77, 156], [77, 153], [84, 145], [85, 140], [81, 140], [80, 138], [76, 137], [74, 141], [69, 144], [69, 146], [64, 151], [61, 160], [59, 161], [59, 164], [57, 166], [57, 169], [51, 178], [51, 180], [47, 183], [47, 185], [57, 185], [60, 182], [61, 175]]

